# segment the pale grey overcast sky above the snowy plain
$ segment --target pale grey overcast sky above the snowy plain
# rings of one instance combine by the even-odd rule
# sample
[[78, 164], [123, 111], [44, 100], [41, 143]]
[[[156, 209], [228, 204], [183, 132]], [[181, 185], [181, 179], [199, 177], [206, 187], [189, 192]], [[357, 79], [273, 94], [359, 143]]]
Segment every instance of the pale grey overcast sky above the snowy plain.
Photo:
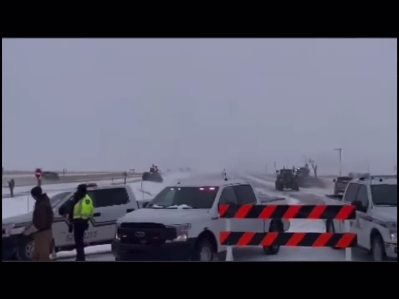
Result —
[[392, 173], [396, 39], [3, 39], [5, 169]]

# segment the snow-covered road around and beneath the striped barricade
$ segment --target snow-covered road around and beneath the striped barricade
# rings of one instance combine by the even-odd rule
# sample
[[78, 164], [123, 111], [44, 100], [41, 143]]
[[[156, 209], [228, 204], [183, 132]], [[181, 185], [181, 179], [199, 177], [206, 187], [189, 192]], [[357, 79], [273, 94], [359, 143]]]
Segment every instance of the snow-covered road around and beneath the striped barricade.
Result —
[[[196, 175], [198, 179], [212, 179], [219, 174]], [[331, 204], [334, 200], [325, 197], [328, 189], [308, 188], [299, 192], [278, 192], [274, 189], [274, 181], [270, 177], [261, 175], [234, 174], [237, 179], [250, 181], [257, 195], [265, 200], [273, 200], [276, 197], [284, 197], [289, 204]], [[143, 188], [145, 189], [145, 187]], [[160, 189], [160, 188], [158, 188]], [[324, 222], [321, 220], [294, 220], [291, 221], [290, 232], [325, 232]], [[111, 245], [92, 246], [85, 249], [88, 261], [114, 261], [111, 253]], [[345, 250], [332, 248], [291, 248], [283, 246], [279, 254], [267, 256], [262, 248], [246, 247], [233, 250], [236, 261], [345, 261]], [[75, 259], [75, 251], [59, 252], [59, 261], [71, 261]], [[371, 257], [360, 249], [352, 249], [353, 261], [371, 261]]]

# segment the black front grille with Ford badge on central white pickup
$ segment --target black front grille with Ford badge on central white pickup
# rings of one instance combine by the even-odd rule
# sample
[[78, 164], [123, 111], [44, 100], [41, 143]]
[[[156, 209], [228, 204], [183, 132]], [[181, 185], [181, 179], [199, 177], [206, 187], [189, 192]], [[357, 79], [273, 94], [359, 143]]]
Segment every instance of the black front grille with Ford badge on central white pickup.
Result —
[[176, 229], [160, 223], [121, 223], [118, 228], [124, 244], [156, 245], [177, 237]]

